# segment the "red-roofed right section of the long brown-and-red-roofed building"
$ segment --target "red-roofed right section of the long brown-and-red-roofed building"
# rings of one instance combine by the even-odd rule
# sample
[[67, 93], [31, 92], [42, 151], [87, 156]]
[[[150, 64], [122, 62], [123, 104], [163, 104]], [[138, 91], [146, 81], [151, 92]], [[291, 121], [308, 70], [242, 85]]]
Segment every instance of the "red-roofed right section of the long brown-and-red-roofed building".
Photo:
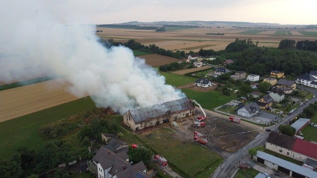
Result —
[[317, 161], [317, 144], [296, 138], [292, 148], [292, 158], [303, 162], [307, 158]]

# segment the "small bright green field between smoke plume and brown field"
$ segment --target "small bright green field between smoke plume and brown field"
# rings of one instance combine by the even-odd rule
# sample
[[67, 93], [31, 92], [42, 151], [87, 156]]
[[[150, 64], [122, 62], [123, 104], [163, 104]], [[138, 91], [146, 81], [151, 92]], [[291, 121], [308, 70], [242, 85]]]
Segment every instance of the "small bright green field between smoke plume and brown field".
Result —
[[197, 78], [173, 74], [170, 72], [159, 71], [159, 74], [165, 77], [166, 84], [169, 84], [174, 87], [182, 86], [189, 83], [194, 83], [195, 81], [197, 81]]

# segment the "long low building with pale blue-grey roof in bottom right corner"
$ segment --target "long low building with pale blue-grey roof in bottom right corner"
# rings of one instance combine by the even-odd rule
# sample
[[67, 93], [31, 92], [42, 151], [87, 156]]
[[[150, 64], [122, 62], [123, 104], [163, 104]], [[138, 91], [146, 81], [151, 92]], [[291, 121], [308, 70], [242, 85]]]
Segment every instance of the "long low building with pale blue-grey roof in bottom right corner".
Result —
[[262, 151], [257, 151], [257, 154], [253, 156], [253, 161], [264, 164], [265, 166], [289, 175], [290, 177], [317, 178], [317, 172], [309, 168], [296, 165]]

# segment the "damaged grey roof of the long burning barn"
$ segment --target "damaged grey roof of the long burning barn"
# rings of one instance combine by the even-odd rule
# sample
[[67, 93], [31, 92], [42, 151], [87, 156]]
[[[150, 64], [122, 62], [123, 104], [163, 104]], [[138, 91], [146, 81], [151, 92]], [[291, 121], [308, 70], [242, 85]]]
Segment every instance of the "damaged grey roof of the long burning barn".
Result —
[[195, 106], [188, 97], [168, 101], [152, 106], [130, 110], [130, 114], [135, 123], [141, 123], [146, 120], [159, 118], [167, 115], [167, 111], [171, 114], [181, 111], [194, 109]]

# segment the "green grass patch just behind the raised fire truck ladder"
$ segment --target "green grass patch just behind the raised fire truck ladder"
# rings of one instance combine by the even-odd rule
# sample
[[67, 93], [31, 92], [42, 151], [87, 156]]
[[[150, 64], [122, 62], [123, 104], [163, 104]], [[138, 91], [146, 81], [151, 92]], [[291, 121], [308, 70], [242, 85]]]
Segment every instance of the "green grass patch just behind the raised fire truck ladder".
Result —
[[195, 99], [203, 108], [213, 110], [214, 108], [236, 99], [236, 94], [230, 96], [224, 95], [219, 91], [199, 92], [192, 89], [182, 89], [182, 91], [190, 98]]

